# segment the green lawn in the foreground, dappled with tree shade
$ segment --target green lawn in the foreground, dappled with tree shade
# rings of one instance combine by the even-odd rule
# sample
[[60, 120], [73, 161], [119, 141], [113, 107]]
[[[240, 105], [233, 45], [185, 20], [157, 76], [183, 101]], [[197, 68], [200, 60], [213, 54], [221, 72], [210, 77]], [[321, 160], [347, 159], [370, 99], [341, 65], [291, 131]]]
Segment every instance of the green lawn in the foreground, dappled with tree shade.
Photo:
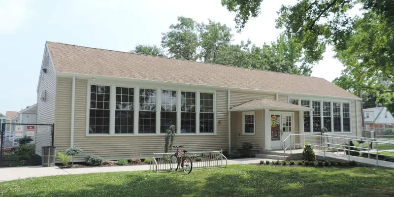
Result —
[[229, 165], [227, 168], [64, 175], [0, 183], [1, 197], [392, 197], [394, 170]]

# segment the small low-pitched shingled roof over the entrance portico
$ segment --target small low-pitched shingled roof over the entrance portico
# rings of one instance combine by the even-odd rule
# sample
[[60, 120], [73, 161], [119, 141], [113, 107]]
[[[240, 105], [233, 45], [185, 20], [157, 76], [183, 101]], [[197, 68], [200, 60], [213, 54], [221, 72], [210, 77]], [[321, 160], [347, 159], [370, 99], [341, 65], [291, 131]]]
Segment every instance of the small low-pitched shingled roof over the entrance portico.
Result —
[[241, 103], [230, 108], [230, 111], [247, 111], [258, 109], [276, 109], [276, 110], [290, 110], [290, 111], [312, 111], [312, 108], [304, 107], [287, 103], [284, 101], [277, 101], [271, 99], [254, 99]]

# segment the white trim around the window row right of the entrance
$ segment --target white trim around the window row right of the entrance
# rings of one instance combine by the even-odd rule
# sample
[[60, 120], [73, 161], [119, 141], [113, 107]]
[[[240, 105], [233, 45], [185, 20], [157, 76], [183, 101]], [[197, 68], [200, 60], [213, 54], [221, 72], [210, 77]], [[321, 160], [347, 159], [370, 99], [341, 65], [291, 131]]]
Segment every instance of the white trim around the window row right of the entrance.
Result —
[[[331, 106], [330, 106], [330, 111], [331, 111], [331, 131], [330, 132], [335, 132], [335, 133], [352, 133], [352, 113], [351, 113], [351, 109], [352, 109], [352, 102], [349, 101], [348, 99], [307, 99], [306, 97], [297, 97], [297, 98], [292, 98], [289, 97], [289, 103], [291, 99], [298, 99], [298, 105], [301, 105], [301, 100], [309, 100], [309, 107], [313, 108], [313, 101], [320, 101], [320, 119], [321, 119], [321, 127], [323, 129], [323, 102], [331, 102]], [[345, 101], [346, 100], [346, 101]], [[340, 119], [341, 119], [341, 131], [334, 131], [334, 114], [333, 114], [333, 102], [337, 102], [340, 103]], [[342, 111], [342, 107], [343, 107], [343, 103], [349, 103], [349, 118], [350, 118], [350, 131], [343, 131], [343, 111]], [[306, 132], [305, 133], [320, 133], [321, 131], [313, 131], [313, 111], [309, 112], [309, 118], [310, 118], [310, 132]], [[328, 131], [329, 132], [329, 131]]]

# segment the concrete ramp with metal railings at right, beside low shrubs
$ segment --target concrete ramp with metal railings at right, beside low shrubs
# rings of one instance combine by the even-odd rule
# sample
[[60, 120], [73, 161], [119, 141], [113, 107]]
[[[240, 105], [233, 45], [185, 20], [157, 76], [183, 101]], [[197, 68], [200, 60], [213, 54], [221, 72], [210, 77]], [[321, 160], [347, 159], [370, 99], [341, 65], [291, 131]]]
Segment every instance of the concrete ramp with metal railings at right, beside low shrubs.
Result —
[[[349, 156], [343, 154], [343, 152], [326, 152], [326, 157], [324, 157], [324, 152], [317, 152], [316, 158], [318, 160], [334, 160], [334, 161], [340, 161], [340, 162], [348, 162], [349, 161]], [[376, 159], [368, 159], [368, 158], [363, 158], [363, 157], [357, 157], [357, 156], [350, 156], [350, 161], [356, 161], [359, 164], [365, 165], [365, 166], [376, 166]], [[391, 168], [394, 169], [394, 163], [393, 162], [386, 162], [386, 161], [378, 161], [378, 166], [379, 167], [386, 167], [386, 168]]]

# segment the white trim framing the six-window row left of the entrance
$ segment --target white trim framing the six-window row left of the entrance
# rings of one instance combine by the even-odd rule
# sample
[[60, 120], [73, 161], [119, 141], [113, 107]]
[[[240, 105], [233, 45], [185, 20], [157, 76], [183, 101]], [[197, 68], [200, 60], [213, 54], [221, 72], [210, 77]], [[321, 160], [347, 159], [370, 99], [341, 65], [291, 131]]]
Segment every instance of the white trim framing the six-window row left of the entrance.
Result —
[[[99, 86], [110, 86], [111, 95], [110, 95], [110, 122], [109, 122], [109, 133], [108, 134], [95, 134], [89, 133], [89, 111], [90, 111], [90, 89], [91, 85], [99, 85]], [[134, 125], [133, 125], [133, 133], [115, 133], [115, 108], [116, 108], [116, 87], [124, 87], [124, 88], [134, 88]], [[156, 133], [138, 133], [139, 128], [139, 89], [151, 89], [156, 90]], [[99, 136], [156, 136], [156, 135], [165, 135], [165, 133], [160, 133], [160, 118], [161, 118], [161, 90], [171, 90], [176, 91], [177, 99], [176, 99], [176, 121], [177, 121], [177, 135], [217, 135], [217, 98], [216, 98], [216, 90], [208, 90], [208, 89], [189, 89], [189, 88], [174, 88], [174, 87], [164, 87], [161, 85], [152, 85], [152, 86], [140, 86], [139, 84], [130, 85], [116, 82], [116, 81], [95, 81], [88, 80], [87, 82], [87, 91], [86, 91], [86, 131], [85, 136], [89, 137], [99, 137]], [[196, 93], [196, 132], [195, 133], [180, 133], [180, 125], [181, 125], [181, 92], [195, 92]], [[213, 133], [199, 133], [199, 93], [209, 93], [213, 94], [213, 112], [214, 112], [214, 120]], [[198, 95], [198, 96], [197, 96]], [[198, 98], [198, 100], [197, 100]]]

